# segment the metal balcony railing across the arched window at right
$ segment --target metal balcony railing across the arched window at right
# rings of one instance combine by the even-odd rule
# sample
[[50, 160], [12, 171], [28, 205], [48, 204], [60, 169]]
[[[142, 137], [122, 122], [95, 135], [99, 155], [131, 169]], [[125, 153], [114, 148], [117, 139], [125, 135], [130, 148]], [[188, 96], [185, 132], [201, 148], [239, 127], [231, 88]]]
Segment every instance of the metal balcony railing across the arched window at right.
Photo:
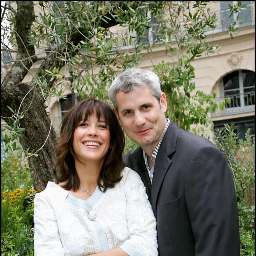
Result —
[[[229, 95], [231, 102], [230, 104], [225, 105], [225, 110], [221, 111], [219, 108], [214, 114], [211, 114], [211, 117], [219, 117], [219, 116], [226, 116], [226, 115], [233, 115], [233, 114], [240, 114], [240, 113], [248, 113], [254, 112], [255, 109], [255, 92], [248, 92], [244, 94], [233, 94]], [[216, 103], [219, 105], [223, 102], [224, 97], [215, 98]]]

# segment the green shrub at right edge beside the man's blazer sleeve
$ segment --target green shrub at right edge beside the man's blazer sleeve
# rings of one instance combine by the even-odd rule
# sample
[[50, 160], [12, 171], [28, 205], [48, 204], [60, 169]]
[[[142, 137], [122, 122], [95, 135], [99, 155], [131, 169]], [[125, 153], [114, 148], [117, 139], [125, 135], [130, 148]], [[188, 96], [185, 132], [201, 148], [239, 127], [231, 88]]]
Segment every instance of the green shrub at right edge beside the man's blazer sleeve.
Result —
[[222, 151], [233, 174], [237, 195], [241, 255], [255, 255], [255, 138], [250, 129], [245, 141], [238, 140], [233, 123], [216, 132], [216, 146]]

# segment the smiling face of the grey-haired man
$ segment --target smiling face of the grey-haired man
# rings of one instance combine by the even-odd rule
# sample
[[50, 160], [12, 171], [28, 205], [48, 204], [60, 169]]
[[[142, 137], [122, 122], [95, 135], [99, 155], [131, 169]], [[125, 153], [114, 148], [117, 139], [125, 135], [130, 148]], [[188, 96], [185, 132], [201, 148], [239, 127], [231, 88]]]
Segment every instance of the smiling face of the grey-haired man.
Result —
[[146, 153], [153, 152], [166, 125], [166, 95], [162, 93], [159, 102], [148, 87], [142, 87], [128, 93], [119, 91], [116, 98], [115, 113], [124, 132]]

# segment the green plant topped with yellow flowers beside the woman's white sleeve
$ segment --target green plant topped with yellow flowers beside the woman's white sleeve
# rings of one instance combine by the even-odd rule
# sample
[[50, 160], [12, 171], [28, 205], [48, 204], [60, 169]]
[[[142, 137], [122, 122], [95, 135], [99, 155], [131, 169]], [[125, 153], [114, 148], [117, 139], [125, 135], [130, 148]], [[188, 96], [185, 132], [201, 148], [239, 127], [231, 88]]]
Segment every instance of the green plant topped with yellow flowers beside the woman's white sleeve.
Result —
[[[6, 162], [4, 162], [6, 164]], [[3, 163], [2, 163], [3, 166]], [[20, 169], [18, 170], [18, 172]], [[31, 184], [31, 181], [29, 182]], [[37, 192], [26, 184], [23, 189], [2, 191], [1, 203], [1, 251], [2, 255], [34, 255], [34, 205], [26, 200]], [[2, 181], [2, 187], [7, 187]], [[26, 207], [25, 207], [26, 200]]]

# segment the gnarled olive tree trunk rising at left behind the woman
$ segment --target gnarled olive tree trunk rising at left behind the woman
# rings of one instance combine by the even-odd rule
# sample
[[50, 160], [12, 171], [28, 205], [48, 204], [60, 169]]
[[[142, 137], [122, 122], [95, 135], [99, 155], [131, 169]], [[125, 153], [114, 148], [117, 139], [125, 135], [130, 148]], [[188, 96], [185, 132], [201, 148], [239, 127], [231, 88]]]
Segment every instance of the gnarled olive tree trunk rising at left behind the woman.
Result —
[[[39, 157], [32, 157], [34, 168], [31, 163], [30, 171], [33, 173], [33, 183], [35, 189], [45, 189], [47, 181], [53, 181], [55, 175], [55, 168], [53, 167], [54, 146], [56, 143], [56, 133], [51, 128], [48, 114], [45, 110], [45, 102], [40, 95], [40, 90], [34, 87], [33, 90], [28, 91], [34, 86], [21, 83], [27, 74], [32, 64], [37, 60], [34, 57], [35, 50], [33, 46], [26, 42], [27, 35], [31, 34], [31, 25], [34, 21], [34, 4], [33, 2], [17, 2], [17, 13], [15, 15], [14, 29], [16, 31], [17, 41], [17, 62], [13, 65], [11, 70], [5, 76], [1, 84], [1, 111], [2, 117], [11, 117], [12, 113], [7, 106], [15, 111], [18, 111], [21, 102], [20, 112], [26, 111], [26, 114], [19, 120], [19, 127], [26, 128], [22, 133], [20, 143], [24, 150], [28, 147], [29, 152], [33, 149], [43, 156], [43, 160]], [[30, 58], [30, 56], [32, 56]], [[26, 98], [25, 95], [27, 94]], [[13, 127], [13, 122], [10, 119], [4, 119], [8, 125]], [[48, 139], [46, 140], [49, 134]]]

